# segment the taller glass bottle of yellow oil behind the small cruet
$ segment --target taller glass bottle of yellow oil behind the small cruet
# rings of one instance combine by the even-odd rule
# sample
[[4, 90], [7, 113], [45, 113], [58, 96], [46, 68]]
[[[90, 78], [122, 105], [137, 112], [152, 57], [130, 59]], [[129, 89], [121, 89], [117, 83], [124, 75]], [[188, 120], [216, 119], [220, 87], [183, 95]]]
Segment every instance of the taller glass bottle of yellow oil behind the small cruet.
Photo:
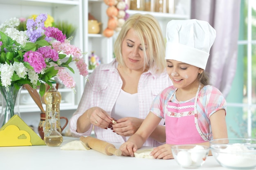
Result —
[[[45, 93], [45, 121], [51, 119], [50, 113], [56, 113], [56, 128], [58, 132], [61, 133], [60, 124], [60, 103], [61, 103], [61, 93], [56, 88], [56, 82], [52, 82], [52, 88]], [[46, 127], [46, 129], [50, 127]]]

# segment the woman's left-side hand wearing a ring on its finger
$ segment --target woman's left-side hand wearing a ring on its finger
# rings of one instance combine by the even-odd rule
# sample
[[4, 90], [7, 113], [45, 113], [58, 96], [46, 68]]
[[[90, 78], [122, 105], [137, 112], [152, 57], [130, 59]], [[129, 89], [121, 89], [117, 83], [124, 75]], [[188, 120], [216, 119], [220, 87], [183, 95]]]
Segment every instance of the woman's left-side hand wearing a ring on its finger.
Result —
[[89, 110], [90, 123], [99, 128], [107, 129], [109, 124], [112, 124], [113, 118], [106, 113], [105, 110], [99, 107], [92, 107]]

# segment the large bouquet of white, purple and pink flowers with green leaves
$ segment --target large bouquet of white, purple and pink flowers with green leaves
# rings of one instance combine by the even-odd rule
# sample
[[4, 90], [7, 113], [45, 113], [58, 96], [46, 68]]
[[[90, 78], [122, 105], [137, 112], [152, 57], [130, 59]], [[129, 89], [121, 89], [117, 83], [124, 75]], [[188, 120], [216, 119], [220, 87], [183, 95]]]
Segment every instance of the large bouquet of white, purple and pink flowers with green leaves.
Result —
[[75, 92], [74, 79], [65, 69], [74, 73], [69, 66], [71, 62], [75, 62], [80, 75], [88, 75], [81, 50], [71, 45], [59, 29], [45, 27], [46, 19], [46, 14], [28, 19], [26, 31], [15, 28], [20, 24], [18, 18], [0, 25], [0, 86], [7, 91], [10, 86], [18, 89], [29, 84], [34, 89], [40, 86], [39, 93], [43, 96], [45, 83], [52, 86], [52, 78], [56, 76]]

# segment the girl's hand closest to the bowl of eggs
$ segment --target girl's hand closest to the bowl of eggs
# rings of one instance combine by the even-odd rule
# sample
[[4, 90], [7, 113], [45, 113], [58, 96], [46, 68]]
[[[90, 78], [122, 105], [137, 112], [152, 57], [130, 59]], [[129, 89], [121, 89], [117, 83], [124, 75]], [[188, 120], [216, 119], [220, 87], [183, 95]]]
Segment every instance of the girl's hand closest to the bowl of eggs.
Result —
[[158, 146], [157, 148], [154, 148], [150, 155], [156, 159], [173, 159], [171, 146], [171, 144], [163, 144]]

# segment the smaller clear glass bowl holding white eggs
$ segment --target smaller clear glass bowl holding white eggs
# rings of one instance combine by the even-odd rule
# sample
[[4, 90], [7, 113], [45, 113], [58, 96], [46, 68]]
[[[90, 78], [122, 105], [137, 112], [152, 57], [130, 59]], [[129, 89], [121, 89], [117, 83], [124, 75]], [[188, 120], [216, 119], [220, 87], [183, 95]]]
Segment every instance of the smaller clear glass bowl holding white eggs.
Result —
[[201, 167], [209, 153], [209, 147], [201, 145], [174, 145], [171, 150], [175, 161], [182, 168]]

